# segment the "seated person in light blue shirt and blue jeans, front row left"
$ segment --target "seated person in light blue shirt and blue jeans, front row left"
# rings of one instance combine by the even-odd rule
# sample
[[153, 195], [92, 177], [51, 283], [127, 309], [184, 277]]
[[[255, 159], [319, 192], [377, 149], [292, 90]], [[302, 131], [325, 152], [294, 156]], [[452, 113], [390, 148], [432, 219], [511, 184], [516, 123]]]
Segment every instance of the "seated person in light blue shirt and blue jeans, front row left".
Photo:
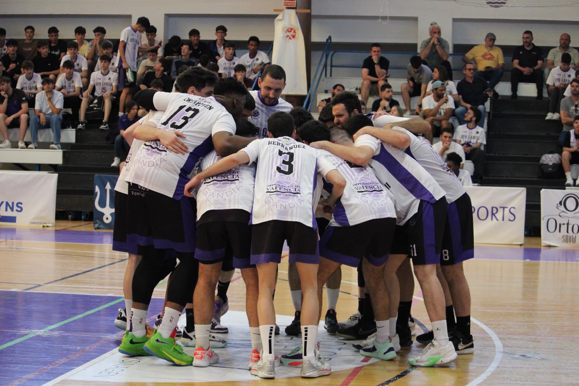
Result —
[[63, 123], [60, 112], [63, 109], [64, 97], [54, 91], [54, 80], [50, 78], [42, 79], [42, 89], [43, 91], [36, 95], [34, 115], [30, 119], [32, 143], [28, 145], [28, 149], [38, 148], [38, 129], [50, 128], [53, 134], [50, 149], [60, 150], [60, 126]]

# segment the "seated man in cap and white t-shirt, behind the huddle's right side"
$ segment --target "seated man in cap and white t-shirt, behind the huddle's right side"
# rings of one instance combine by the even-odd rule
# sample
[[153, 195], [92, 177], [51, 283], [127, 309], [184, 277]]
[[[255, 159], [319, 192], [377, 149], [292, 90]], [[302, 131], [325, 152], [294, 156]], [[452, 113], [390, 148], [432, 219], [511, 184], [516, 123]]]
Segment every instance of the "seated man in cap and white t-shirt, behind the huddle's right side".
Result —
[[431, 131], [424, 133], [424, 138], [433, 142], [433, 135], [440, 135], [442, 128], [452, 128], [448, 122], [455, 112], [455, 100], [445, 93], [446, 87], [440, 80], [433, 83], [433, 93], [422, 101], [424, 119], [430, 123]]

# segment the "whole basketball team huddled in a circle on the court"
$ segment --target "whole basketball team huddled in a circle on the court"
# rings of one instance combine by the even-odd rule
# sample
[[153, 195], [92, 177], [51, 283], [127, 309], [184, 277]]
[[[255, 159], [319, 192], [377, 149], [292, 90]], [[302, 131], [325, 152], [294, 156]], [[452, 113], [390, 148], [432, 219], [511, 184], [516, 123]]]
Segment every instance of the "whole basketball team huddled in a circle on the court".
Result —
[[[129, 253], [126, 308], [115, 321], [126, 328], [120, 352], [181, 366], [217, 363], [213, 349], [227, 344], [218, 337], [228, 332], [220, 320], [226, 290], [239, 269], [251, 374], [274, 378], [282, 364], [301, 367], [305, 378], [331, 373], [317, 344], [326, 284], [328, 333], [365, 339], [354, 344], [361, 355], [389, 361], [413, 343], [410, 259], [433, 330], [417, 338], [426, 348], [409, 364], [444, 365], [474, 352], [462, 266], [474, 257], [471, 201], [420, 136], [430, 124], [362, 115], [347, 91], [331, 101], [335, 126], [309, 113], [298, 119], [280, 97], [278, 65], [264, 69], [259, 91], [203, 68], [182, 72], [177, 86], [181, 93], [135, 94], [150, 112], [124, 132], [131, 148], [115, 188], [113, 233], [113, 249]], [[273, 298], [284, 242], [297, 300], [285, 331], [301, 333], [302, 344], [278, 356]], [[338, 324], [339, 290], [329, 284], [339, 275], [339, 288], [342, 264], [358, 268], [368, 295], [350, 322]], [[164, 310], [150, 328], [149, 303], [168, 274]], [[195, 347], [193, 355], [184, 346]]]

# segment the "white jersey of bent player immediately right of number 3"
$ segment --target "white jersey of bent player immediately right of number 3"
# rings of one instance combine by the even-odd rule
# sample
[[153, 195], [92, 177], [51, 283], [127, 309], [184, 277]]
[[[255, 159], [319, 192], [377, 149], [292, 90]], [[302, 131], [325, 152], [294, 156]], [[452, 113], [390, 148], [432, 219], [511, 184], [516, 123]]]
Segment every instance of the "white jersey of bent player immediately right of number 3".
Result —
[[334, 165], [346, 179], [346, 188], [336, 203], [329, 226], [352, 226], [379, 218], [396, 218], [394, 204], [372, 168], [346, 162], [325, 150], [318, 159]]

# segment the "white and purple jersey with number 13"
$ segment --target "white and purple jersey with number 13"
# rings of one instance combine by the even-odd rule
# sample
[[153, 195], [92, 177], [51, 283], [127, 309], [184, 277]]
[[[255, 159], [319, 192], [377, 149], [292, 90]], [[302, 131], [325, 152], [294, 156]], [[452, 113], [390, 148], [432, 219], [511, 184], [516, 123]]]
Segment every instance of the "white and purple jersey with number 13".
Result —
[[235, 134], [235, 121], [214, 97], [157, 91], [153, 106], [164, 111], [157, 128], [185, 134], [180, 139], [189, 153], [173, 153], [158, 139], [146, 141], [135, 153], [126, 181], [179, 200], [197, 161], [213, 150], [212, 135], [219, 131]]

